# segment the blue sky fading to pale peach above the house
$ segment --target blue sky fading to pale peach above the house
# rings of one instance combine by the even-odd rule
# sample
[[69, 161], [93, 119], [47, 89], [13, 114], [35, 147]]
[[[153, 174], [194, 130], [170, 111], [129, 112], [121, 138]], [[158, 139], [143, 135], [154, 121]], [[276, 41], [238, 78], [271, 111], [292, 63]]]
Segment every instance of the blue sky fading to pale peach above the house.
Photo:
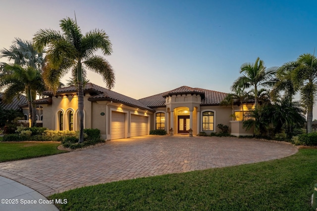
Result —
[[[182, 85], [230, 92], [245, 62], [260, 57], [280, 66], [313, 53], [315, 8], [315, 0], [2, 1], [0, 48], [39, 29], [59, 30], [59, 20], [76, 11], [83, 33], [109, 35], [114, 91], [136, 99]], [[104, 86], [97, 74], [88, 77]]]

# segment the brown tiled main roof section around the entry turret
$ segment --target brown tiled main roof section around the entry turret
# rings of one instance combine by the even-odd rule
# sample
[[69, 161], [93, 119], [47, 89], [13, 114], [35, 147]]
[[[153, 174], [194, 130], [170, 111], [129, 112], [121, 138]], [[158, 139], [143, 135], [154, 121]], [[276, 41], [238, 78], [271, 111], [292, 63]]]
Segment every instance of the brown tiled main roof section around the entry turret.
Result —
[[227, 95], [227, 93], [209, 89], [181, 86], [170, 91], [139, 99], [139, 101], [149, 107], [162, 107], [165, 106], [165, 97], [172, 94], [200, 94], [202, 96], [201, 105], [219, 105]]

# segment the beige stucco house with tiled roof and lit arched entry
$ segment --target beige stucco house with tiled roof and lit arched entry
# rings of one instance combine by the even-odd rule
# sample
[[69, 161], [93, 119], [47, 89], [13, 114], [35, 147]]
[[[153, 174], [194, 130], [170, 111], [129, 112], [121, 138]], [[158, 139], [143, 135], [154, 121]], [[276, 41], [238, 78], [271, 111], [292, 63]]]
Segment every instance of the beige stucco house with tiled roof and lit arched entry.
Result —
[[[78, 97], [76, 86], [43, 92], [46, 98], [36, 100], [41, 108], [43, 127], [54, 130], [78, 130]], [[105, 140], [129, 138], [163, 129], [167, 134], [216, 132], [218, 124], [228, 125], [233, 135], [251, 135], [241, 121], [232, 121], [233, 112], [241, 106], [220, 106], [226, 93], [181, 86], [139, 100], [96, 84], [84, 87], [84, 128], [98, 128]], [[248, 110], [252, 105], [244, 105]], [[242, 113], [241, 113], [242, 114]]]

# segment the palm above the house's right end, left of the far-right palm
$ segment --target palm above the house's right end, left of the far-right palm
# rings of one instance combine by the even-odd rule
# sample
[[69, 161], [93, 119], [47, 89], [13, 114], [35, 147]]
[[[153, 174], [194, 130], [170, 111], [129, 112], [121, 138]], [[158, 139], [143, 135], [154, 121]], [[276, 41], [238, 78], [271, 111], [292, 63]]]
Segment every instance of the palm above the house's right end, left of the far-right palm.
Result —
[[272, 86], [275, 83], [275, 73], [277, 68], [266, 68], [264, 61], [258, 57], [255, 63], [244, 63], [240, 68], [240, 76], [231, 86], [232, 89], [236, 87], [244, 87], [254, 89], [255, 108], [258, 107], [258, 89], [260, 87]]

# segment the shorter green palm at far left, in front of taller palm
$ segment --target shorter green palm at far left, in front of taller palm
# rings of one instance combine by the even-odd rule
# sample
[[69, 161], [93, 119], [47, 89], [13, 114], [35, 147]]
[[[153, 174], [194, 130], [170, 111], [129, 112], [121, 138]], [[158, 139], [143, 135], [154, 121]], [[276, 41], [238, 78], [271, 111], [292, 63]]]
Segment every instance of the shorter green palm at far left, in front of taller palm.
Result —
[[29, 106], [29, 127], [32, 127], [33, 110], [32, 102], [38, 92], [44, 91], [41, 73], [33, 68], [23, 68], [20, 65], [6, 65], [5, 69], [12, 74], [0, 77], [0, 88], [5, 89], [3, 98], [4, 103], [12, 101], [14, 96], [26, 94]]

